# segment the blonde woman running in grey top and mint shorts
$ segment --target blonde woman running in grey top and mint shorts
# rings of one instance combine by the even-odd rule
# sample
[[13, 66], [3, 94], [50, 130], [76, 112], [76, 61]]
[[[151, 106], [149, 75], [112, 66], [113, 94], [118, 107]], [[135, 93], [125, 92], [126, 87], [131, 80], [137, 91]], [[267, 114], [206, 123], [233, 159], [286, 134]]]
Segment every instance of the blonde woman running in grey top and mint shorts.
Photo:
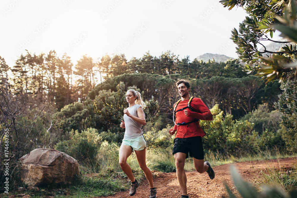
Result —
[[153, 184], [151, 170], [146, 166], [146, 141], [141, 130], [142, 125], [146, 125], [145, 114], [143, 112], [144, 102], [138, 91], [130, 89], [126, 93], [126, 100], [129, 107], [124, 109], [124, 121], [121, 128], [125, 128], [125, 135], [119, 152], [119, 164], [124, 173], [131, 180], [130, 196], [135, 195], [138, 181], [134, 178], [131, 167], [127, 163], [127, 158], [135, 151], [138, 164], [143, 170], [146, 179], [149, 181], [149, 198], [155, 198], [157, 190]]

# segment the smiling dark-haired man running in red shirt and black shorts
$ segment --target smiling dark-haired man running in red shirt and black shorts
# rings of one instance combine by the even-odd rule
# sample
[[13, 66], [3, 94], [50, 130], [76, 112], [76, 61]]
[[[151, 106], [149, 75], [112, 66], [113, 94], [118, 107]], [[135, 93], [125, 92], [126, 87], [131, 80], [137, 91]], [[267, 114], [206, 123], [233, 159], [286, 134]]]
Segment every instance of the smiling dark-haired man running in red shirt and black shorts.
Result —
[[208, 161], [204, 161], [203, 145], [201, 137], [205, 133], [200, 128], [199, 120], [212, 120], [212, 114], [199, 98], [190, 97], [190, 83], [180, 80], [176, 83], [181, 100], [174, 104], [176, 122], [169, 131], [175, 134], [172, 154], [176, 164], [176, 175], [181, 187], [181, 198], [188, 198], [187, 177], [184, 171], [185, 159], [189, 154], [193, 157], [197, 172], [207, 172], [209, 178], [214, 179], [214, 171]]

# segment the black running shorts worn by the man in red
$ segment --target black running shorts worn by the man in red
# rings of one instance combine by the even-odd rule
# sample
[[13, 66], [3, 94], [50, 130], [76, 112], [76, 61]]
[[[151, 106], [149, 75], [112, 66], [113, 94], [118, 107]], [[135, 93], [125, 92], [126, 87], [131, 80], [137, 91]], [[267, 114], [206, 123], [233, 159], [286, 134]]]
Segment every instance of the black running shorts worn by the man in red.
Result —
[[195, 159], [204, 159], [202, 139], [200, 136], [187, 137], [187, 138], [175, 138], [172, 154], [174, 153], [186, 153], [186, 159], [190, 156]]

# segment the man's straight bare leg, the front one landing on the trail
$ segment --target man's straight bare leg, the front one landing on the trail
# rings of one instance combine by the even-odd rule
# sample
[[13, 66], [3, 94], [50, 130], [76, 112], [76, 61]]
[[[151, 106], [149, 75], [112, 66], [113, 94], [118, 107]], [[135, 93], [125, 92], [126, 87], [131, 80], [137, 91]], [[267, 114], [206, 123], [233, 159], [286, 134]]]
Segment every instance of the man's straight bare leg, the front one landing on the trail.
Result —
[[174, 153], [173, 154], [176, 165], [176, 175], [179, 186], [181, 187], [181, 194], [188, 195], [187, 193], [187, 176], [184, 170], [186, 153]]

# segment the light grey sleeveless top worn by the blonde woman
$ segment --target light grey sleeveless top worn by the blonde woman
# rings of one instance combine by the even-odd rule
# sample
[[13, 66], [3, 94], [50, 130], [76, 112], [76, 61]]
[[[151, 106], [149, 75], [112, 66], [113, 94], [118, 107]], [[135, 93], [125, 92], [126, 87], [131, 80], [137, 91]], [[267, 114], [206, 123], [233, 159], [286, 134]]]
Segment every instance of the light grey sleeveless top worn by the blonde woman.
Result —
[[[142, 109], [141, 105], [135, 104], [132, 107], [128, 107], [127, 110], [129, 111], [130, 114], [138, 117], [137, 110], [139, 107]], [[143, 116], [145, 117], [144, 112], [143, 112]], [[143, 134], [141, 130], [142, 125], [137, 123], [135, 120], [133, 120], [126, 114], [124, 114], [124, 122], [125, 122], [124, 140], [135, 138]]]

